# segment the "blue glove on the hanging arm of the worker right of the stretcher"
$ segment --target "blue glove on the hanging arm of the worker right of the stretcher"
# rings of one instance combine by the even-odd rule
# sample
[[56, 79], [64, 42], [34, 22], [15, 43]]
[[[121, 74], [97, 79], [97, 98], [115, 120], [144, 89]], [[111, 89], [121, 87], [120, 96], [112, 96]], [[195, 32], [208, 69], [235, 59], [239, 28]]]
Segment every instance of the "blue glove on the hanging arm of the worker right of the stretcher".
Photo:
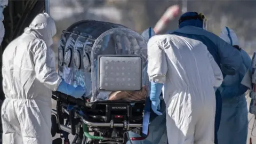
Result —
[[150, 100], [151, 100], [151, 109], [157, 115], [162, 115], [158, 110], [160, 107], [160, 94], [163, 84], [151, 82], [151, 91], [150, 91]]

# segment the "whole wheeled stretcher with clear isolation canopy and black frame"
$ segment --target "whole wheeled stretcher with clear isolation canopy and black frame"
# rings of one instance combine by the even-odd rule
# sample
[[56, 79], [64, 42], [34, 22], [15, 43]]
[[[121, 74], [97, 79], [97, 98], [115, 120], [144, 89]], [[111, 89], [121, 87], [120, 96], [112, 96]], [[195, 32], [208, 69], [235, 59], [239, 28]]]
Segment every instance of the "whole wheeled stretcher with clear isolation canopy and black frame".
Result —
[[[71, 25], [61, 35], [58, 73], [86, 93], [53, 93], [52, 136], [61, 133], [65, 143], [83, 144], [145, 139], [151, 106], [146, 69], [147, 46], [137, 32], [94, 20]], [[129, 138], [129, 131], [141, 137]]]

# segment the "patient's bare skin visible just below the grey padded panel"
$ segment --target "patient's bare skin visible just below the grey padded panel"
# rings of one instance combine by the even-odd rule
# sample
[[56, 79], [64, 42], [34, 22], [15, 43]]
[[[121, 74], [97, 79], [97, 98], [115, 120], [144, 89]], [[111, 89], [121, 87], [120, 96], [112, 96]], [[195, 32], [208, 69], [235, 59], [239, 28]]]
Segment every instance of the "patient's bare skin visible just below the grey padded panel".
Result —
[[147, 93], [147, 86], [140, 91], [115, 91], [109, 94], [108, 100], [140, 101], [146, 99]]

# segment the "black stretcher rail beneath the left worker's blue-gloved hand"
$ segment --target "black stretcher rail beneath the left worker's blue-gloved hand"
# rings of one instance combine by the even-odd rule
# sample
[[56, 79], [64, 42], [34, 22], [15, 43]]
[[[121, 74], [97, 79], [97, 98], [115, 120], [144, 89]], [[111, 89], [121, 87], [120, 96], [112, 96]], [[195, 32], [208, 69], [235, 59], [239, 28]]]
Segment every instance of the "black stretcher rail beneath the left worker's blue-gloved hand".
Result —
[[[94, 105], [89, 102], [85, 102], [83, 99], [77, 99], [74, 98], [70, 95], [61, 93], [61, 92], [54, 92], [53, 95], [56, 95], [57, 98], [60, 98], [62, 101], [71, 103], [73, 105], [78, 105], [78, 106], [83, 106], [83, 107], [88, 107], [88, 108], [94, 108]], [[57, 100], [57, 98], [52, 97], [53, 99]]]

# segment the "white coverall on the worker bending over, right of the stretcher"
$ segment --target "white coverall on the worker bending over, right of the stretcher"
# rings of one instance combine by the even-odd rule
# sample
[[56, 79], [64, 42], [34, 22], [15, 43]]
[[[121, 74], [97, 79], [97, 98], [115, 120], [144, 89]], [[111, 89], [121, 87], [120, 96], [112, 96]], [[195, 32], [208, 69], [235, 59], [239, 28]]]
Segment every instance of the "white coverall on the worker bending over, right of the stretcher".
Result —
[[157, 35], [148, 42], [149, 81], [162, 83], [169, 144], [214, 144], [215, 92], [222, 73], [195, 39]]

